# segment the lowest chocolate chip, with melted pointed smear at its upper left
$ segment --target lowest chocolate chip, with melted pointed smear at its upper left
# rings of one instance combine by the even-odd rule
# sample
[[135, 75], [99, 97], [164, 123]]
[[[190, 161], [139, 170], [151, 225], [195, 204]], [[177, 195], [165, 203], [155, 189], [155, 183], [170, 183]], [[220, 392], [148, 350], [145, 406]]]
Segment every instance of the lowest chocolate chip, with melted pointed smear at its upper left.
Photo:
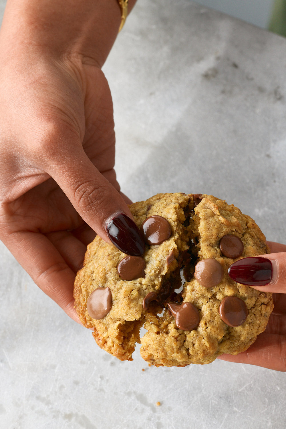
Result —
[[177, 328], [182, 329], [182, 331], [192, 331], [198, 326], [199, 311], [191, 302], [169, 303], [168, 307], [175, 317]]

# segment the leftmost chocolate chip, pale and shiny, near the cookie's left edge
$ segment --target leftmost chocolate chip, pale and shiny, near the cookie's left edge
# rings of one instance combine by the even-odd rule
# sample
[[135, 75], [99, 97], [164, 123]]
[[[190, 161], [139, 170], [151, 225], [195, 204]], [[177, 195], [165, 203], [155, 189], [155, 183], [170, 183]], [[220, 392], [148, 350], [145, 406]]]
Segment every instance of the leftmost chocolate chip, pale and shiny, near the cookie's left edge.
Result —
[[87, 311], [90, 317], [99, 320], [109, 313], [112, 306], [112, 296], [109, 287], [98, 287], [90, 293], [87, 300]]

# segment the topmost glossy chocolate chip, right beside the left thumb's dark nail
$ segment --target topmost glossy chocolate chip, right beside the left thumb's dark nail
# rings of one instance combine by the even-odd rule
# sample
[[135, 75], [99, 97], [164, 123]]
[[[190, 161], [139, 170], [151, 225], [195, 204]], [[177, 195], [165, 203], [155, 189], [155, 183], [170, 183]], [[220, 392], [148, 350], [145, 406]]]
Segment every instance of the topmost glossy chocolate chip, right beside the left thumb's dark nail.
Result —
[[141, 225], [140, 232], [145, 237], [145, 242], [148, 245], [158, 245], [169, 239], [172, 230], [165, 218], [155, 215], [145, 219]]

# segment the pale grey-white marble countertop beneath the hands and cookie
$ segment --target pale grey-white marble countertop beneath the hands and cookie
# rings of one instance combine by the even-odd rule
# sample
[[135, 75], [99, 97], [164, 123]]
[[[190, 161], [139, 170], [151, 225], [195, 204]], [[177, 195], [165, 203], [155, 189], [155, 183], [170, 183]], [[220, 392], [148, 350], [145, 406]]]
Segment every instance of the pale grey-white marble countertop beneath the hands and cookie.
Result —
[[[226, 15], [139, 0], [104, 66], [123, 192], [211, 193], [285, 242], [285, 56], [286, 39]], [[148, 367], [138, 348], [120, 362], [2, 244], [0, 282], [1, 429], [286, 427], [285, 373]]]

